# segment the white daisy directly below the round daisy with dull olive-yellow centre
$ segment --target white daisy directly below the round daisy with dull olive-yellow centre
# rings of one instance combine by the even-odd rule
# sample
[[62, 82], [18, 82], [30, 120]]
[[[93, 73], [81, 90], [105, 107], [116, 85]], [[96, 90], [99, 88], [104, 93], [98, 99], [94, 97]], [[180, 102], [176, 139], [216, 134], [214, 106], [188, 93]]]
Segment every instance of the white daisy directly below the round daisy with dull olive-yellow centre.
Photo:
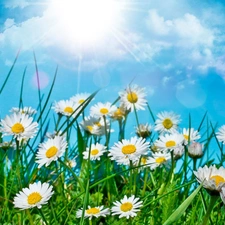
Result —
[[182, 134], [172, 133], [159, 136], [159, 140], [155, 141], [155, 145], [164, 151], [172, 151], [175, 148], [182, 146], [183, 142], [184, 137]]

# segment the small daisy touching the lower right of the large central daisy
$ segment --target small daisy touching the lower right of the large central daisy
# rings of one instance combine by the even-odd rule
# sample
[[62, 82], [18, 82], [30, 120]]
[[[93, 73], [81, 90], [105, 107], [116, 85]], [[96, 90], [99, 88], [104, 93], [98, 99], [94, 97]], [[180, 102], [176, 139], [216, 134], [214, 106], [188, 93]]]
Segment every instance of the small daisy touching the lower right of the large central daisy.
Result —
[[162, 167], [163, 165], [166, 167], [170, 166], [171, 162], [171, 154], [170, 153], [152, 153], [152, 156], [148, 158], [147, 164], [151, 170], [154, 170], [157, 167]]

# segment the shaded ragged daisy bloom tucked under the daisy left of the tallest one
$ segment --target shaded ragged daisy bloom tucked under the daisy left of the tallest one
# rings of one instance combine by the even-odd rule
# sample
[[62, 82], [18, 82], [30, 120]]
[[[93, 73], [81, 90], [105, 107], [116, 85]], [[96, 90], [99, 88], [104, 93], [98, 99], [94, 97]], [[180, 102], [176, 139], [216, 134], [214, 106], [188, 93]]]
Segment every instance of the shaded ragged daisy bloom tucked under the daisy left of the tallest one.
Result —
[[[105, 134], [105, 122], [103, 117], [85, 117], [84, 120], [80, 123], [80, 125], [84, 130], [93, 135], [102, 136]], [[106, 130], [109, 131], [110, 124], [108, 120], [106, 120], [106, 126]]]

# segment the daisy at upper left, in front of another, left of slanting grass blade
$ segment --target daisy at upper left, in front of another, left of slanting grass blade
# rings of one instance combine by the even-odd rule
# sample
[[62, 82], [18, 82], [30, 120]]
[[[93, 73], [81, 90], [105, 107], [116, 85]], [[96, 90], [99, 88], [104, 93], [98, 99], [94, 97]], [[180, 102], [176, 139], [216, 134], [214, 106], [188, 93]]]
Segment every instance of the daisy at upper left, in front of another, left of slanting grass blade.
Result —
[[64, 116], [71, 116], [73, 114], [72, 117], [76, 117], [77, 113], [74, 113], [74, 111], [76, 111], [78, 106], [79, 105], [72, 100], [60, 100], [55, 102], [52, 109], [54, 109], [56, 113], [60, 113]]

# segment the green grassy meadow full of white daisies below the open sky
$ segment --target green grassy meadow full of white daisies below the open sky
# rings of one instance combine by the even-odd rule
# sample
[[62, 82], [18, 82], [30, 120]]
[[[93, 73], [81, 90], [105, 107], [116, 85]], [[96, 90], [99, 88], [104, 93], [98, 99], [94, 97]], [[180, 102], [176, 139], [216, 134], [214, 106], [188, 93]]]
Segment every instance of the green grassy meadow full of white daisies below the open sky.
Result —
[[[176, 109], [155, 114], [135, 83], [114, 102], [93, 104], [99, 90], [52, 101], [57, 69], [34, 109], [23, 101], [24, 76], [0, 122], [0, 224], [224, 224], [225, 126], [205, 113], [198, 127], [194, 115], [180, 127]], [[139, 122], [142, 110], [150, 121]]]

